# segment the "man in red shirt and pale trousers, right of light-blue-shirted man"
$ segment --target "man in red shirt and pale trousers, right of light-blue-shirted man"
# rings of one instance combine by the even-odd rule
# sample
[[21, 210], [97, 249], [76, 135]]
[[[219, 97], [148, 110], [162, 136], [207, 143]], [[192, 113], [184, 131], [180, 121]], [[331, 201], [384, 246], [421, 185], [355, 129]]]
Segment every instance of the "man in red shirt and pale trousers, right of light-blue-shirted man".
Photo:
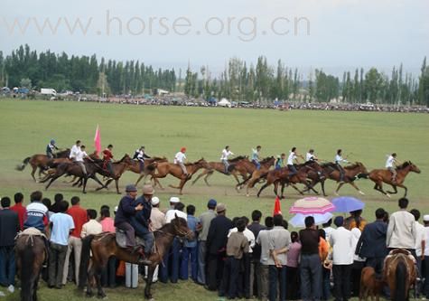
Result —
[[74, 255], [74, 268], [76, 285], [79, 286], [79, 265], [80, 265], [80, 252], [82, 250], [82, 240], [80, 240], [80, 232], [82, 226], [88, 221], [87, 211], [80, 207], [80, 199], [78, 196], [73, 196], [70, 200], [71, 207], [67, 214], [71, 216], [74, 222], [74, 230], [69, 236], [69, 248], [67, 249], [66, 259], [64, 261], [64, 270], [62, 273], [62, 284], [67, 283], [67, 276], [69, 275], [70, 254], [73, 250]]

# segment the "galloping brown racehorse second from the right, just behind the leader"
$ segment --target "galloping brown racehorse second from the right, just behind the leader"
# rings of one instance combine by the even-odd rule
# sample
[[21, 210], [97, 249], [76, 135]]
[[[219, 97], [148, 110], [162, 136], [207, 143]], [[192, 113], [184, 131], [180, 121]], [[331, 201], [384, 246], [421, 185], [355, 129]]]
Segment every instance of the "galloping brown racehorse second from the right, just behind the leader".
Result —
[[[340, 182], [340, 171], [333, 163], [327, 163], [321, 165], [323, 168], [324, 174], [333, 181]], [[345, 183], [350, 183], [360, 194], [365, 195], [362, 191], [360, 191], [359, 187], [354, 183], [357, 178], [367, 177], [368, 171], [367, 167], [360, 162], [356, 162], [353, 165], [344, 166], [344, 177], [343, 181], [339, 183], [337, 190], [335, 190], [335, 194], [338, 195], [338, 191], [341, 186]]]

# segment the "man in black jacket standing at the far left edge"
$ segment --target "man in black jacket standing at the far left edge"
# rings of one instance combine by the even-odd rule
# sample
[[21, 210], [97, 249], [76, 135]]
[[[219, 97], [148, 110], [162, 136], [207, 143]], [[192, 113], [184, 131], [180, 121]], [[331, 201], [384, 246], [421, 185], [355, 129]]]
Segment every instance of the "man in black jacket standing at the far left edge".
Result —
[[2, 198], [0, 210], [0, 285], [14, 292], [14, 238], [20, 230], [18, 213], [10, 210], [11, 199]]

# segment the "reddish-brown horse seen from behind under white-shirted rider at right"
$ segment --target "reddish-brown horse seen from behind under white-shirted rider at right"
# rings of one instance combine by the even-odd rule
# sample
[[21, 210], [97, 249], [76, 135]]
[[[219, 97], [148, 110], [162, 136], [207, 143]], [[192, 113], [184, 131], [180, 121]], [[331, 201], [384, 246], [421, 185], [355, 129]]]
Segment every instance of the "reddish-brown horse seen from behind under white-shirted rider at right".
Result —
[[385, 259], [384, 279], [390, 289], [391, 300], [406, 301], [409, 289], [415, 285], [417, 271], [413, 256], [406, 249], [394, 249]]

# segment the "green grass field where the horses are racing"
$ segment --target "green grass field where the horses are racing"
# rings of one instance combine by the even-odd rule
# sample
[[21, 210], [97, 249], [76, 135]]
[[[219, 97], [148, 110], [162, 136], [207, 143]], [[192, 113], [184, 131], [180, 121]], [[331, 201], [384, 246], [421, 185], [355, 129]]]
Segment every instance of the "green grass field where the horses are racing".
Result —
[[[368, 170], [383, 168], [386, 155], [398, 154], [400, 160], [411, 160], [422, 174], [409, 174], [406, 179], [411, 207], [422, 213], [429, 213], [429, 116], [424, 114], [396, 114], [373, 112], [331, 112], [331, 111], [277, 111], [270, 109], [228, 109], [228, 108], [185, 108], [149, 107], [135, 105], [109, 105], [83, 102], [48, 102], [26, 100], [1, 100], [0, 112], [0, 195], [13, 196], [23, 192], [28, 202], [29, 193], [43, 190], [41, 183], [34, 183], [30, 169], [23, 172], [14, 170], [23, 158], [33, 154], [43, 154], [51, 138], [60, 147], [70, 147], [80, 139], [93, 149], [93, 139], [97, 124], [101, 128], [103, 146], [113, 144], [114, 154], [120, 158], [132, 155], [135, 148], [145, 145], [149, 155], [165, 155], [170, 160], [181, 146], [186, 146], [189, 161], [204, 157], [207, 161], [219, 161], [220, 152], [229, 145], [236, 155], [250, 155], [252, 147], [263, 146], [262, 155], [288, 153], [297, 146], [301, 154], [314, 148], [324, 160], [333, 160], [337, 148], [349, 155], [350, 161], [364, 163]], [[120, 188], [126, 183], [134, 183], [137, 174], [126, 173], [121, 178]], [[161, 179], [164, 186], [177, 183], [177, 179]], [[264, 215], [271, 214], [274, 193], [267, 188], [260, 199], [256, 190], [250, 197], [237, 193], [234, 180], [222, 174], [210, 178], [211, 186], [202, 181], [194, 186], [187, 184], [181, 197], [185, 204], [193, 203], [197, 214], [205, 209], [206, 202], [215, 198], [228, 206], [228, 216], [250, 216], [254, 209]], [[361, 199], [366, 202], [364, 217], [373, 220], [373, 212], [384, 207], [389, 212], [396, 210], [397, 197], [392, 199], [372, 189], [369, 180], [359, 180], [359, 188], [366, 193]], [[97, 209], [102, 204], [115, 206], [119, 201], [112, 188], [110, 191], [94, 192], [96, 183], [89, 182], [89, 193], [82, 194], [78, 188], [62, 180], [51, 185], [44, 194], [53, 198], [54, 193], [63, 193], [67, 200], [79, 195], [82, 205]], [[332, 197], [335, 183], [329, 181], [326, 191]], [[170, 196], [177, 191], [166, 188], [156, 194], [167, 205]], [[350, 186], [343, 186], [341, 195], [359, 194]], [[286, 199], [282, 201], [283, 212], [300, 196], [292, 189], [286, 189]], [[399, 190], [402, 196], [403, 191]], [[360, 197], [360, 196], [359, 196]], [[285, 214], [287, 217], [289, 215]], [[68, 286], [60, 291], [45, 287], [39, 292], [42, 300], [56, 300], [59, 296], [79, 300], [79, 294]], [[107, 290], [110, 300], [141, 299], [143, 290]], [[206, 292], [191, 282], [178, 285], [154, 285], [154, 296], [158, 300], [217, 300], [215, 294]], [[6, 298], [17, 300], [18, 293]]]

